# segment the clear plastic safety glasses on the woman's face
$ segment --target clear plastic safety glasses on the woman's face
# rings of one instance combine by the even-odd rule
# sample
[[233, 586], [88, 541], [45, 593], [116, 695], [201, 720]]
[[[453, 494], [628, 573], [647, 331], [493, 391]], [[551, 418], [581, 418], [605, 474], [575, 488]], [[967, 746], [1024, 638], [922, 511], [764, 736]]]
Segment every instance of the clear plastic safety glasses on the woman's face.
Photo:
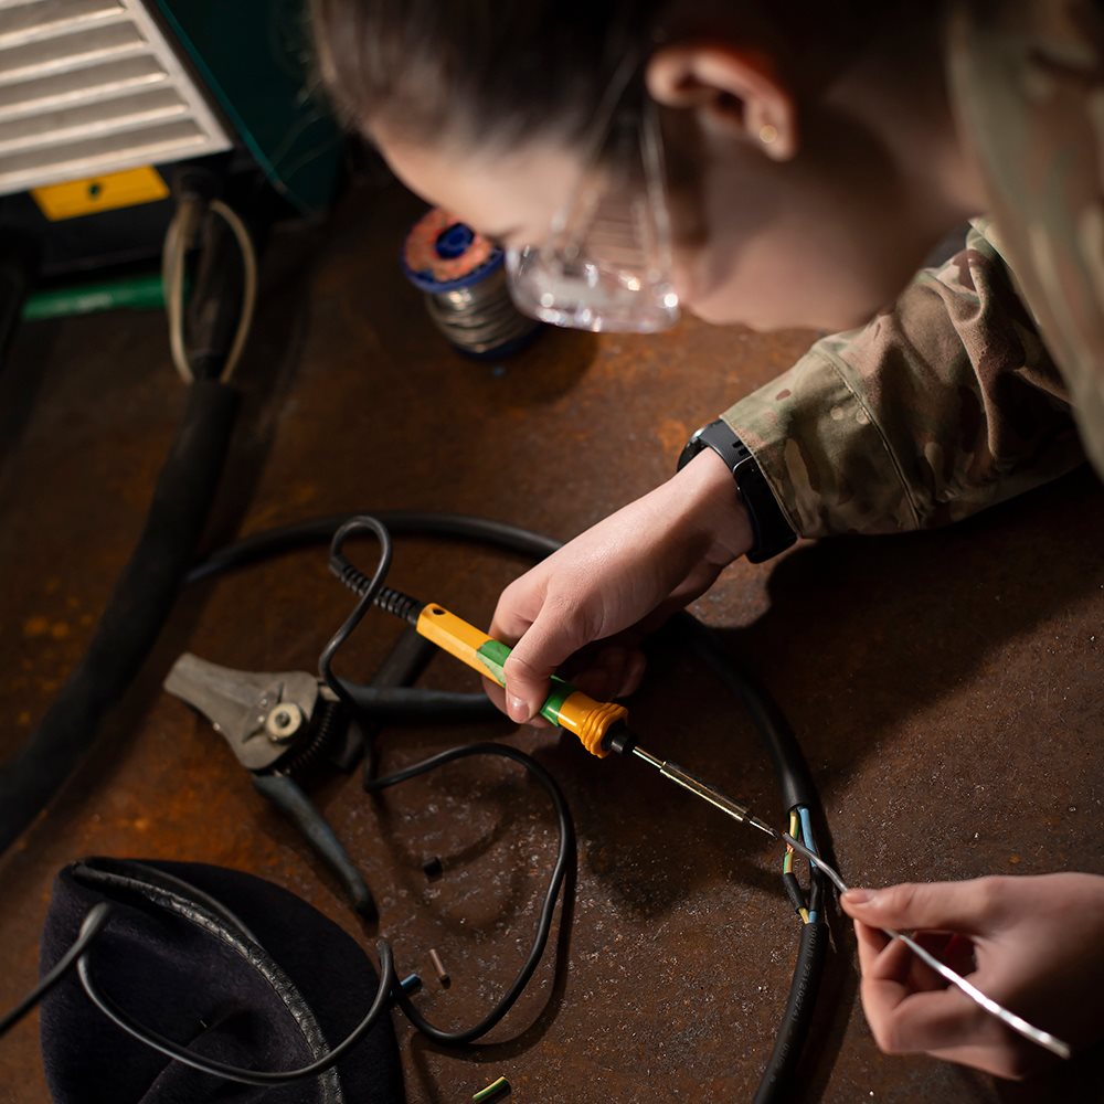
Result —
[[651, 98], [620, 107], [571, 201], [539, 246], [507, 253], [510, 294], [532, 318], [655, 333], [679, 318], [662, 139]]

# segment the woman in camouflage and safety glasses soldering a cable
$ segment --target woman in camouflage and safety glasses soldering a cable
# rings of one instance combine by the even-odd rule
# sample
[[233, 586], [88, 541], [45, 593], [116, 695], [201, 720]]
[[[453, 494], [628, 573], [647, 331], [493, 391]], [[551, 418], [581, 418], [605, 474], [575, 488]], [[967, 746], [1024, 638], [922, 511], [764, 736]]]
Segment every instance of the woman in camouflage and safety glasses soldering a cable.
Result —
[[[576, 681], [630, 692], [639, 634], [740, 555], [954, 521], [1085, 453], [1104, 473], [1098, 3], [316, 0], [316, 25], [338, 103], [414, 191], [514, 251], [539, 316], [649, 330], [681, 301], [757, 329], [860, 327], [507, 588], [491, 631], [516, 644], [499, 702], [516, 721], [594, 641]], [[1044, 1058], [881, 926], [959, 932], [980, 988], [1075, 1044], [1101, 1036], [1104, 879], [843, 905], [883, 1049], [1007, 1076]]]

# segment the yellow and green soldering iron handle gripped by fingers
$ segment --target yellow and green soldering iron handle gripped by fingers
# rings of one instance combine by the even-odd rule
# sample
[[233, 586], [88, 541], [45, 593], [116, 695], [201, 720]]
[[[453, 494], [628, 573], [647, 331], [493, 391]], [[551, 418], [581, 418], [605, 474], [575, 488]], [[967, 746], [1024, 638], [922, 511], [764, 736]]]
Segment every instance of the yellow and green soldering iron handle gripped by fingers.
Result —
[[[506, 686], [502, 665], [510, 655], [510, 649], [500, 640], [489, 637], [432, 602], [422, 609], [416, 627], [420, 636], [467, 664], [473, 670], [493, 679], [500, 687]], [[624, 705], [595, 701], [554, 675], [552, 693], [541, 707], [541, 716], [573, 732], [583, 746], [599, 758], [609, 754], [602, 746], [609, 726], [627, 715], [628, 710]]]

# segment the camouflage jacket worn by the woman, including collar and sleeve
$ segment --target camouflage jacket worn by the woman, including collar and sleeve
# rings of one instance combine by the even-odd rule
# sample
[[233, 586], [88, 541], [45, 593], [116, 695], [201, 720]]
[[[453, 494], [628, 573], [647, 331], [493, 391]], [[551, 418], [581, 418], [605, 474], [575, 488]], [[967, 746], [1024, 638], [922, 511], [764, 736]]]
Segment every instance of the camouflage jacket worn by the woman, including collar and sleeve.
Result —
[[1085, 453], [1104, 475], [1104, 11], [956, 0], [948, 51], [988, 217], [723, 415], [803, 537], [955, 521]]

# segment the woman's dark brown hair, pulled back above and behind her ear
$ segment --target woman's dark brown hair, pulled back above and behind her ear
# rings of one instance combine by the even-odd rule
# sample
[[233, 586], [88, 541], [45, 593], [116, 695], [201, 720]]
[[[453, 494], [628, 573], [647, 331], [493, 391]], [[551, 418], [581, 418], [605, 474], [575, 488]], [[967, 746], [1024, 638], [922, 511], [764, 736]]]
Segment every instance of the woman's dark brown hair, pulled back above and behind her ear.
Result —
[[[311, 0], [322, 79], [371, 132], [386, 119], [413, 142], [447, 135], [508, 148], [572, 140], [626, 72], [643, 74], [662, 22], [697, 36], [718, 13], [741, 38], [784, 53], [806, 87], [904, 13], [931, 21], [942, 0]], [[700, 24], [700, 25], [699, 25]], [[671, 30], [671, 28], [666, 28]], [[815, 74], [820, 74], [818, 79]], [[643, 88], [643, 83], [638, 83]]]

